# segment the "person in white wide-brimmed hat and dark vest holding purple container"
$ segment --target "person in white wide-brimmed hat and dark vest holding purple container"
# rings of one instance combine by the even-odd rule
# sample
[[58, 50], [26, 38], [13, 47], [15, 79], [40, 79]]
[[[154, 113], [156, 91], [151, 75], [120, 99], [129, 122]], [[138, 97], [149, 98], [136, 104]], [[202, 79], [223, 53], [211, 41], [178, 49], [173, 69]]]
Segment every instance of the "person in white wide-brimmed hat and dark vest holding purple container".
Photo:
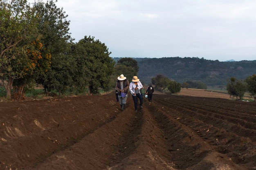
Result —
[[[116, 89], [117, 89], [117, 96], [119, 99], [119, 104], [121, 106], [121, 110], [124, 110], [124, 106], [126, 104], [127, 100], [127, 93], [128, 93], [128, 88], [129, 88], [129, 81], [124, 77], [123, 74], [117, 77], [117, 82], [116, 82]], [[125, 96], [122, 97], [121, 93], [125, 93]]]

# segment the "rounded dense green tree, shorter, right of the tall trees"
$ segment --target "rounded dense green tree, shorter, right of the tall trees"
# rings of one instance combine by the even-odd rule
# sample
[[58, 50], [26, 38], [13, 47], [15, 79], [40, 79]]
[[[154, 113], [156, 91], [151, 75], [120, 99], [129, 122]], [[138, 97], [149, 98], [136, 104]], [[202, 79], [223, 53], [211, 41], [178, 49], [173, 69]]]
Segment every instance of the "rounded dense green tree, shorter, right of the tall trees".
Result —
[[[109, 56], [108, 47], [94, 37], [85, 36], [72, 46], [72, 53], [78, 64], [77, 75], [82, 82], [77, 85], [89, 86], [89, 93], [99, 93], [99, 88], [109, 90], [110, 75], [114, 71], [115, 61]], [[80, 83], [80, 84], [79, 84]]]

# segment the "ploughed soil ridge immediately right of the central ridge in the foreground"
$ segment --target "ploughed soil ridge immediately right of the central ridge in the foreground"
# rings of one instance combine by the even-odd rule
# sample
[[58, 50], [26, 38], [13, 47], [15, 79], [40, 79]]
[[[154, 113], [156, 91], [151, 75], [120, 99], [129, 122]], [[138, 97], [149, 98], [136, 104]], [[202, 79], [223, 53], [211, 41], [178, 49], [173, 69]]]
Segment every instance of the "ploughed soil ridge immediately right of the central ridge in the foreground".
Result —
[[[162, 127], [165, 135], [170, 159], [176, 169], [180, 170], [211, 170], [218, 167], [220, 169], [243, 170], [240, 167], [214, 150], [202, 137], [193, 133], [193, 129], [182, 124], [180, 118], [174, 118], [171, 113], [159, 110], [158, 106], [150, 106], [154, 110], [152, 114], [157, 120], [157, 124]], [[213, 159], [214, 158], [214, 159]], [[218, 159], [218, 162], [212, 161]]]

